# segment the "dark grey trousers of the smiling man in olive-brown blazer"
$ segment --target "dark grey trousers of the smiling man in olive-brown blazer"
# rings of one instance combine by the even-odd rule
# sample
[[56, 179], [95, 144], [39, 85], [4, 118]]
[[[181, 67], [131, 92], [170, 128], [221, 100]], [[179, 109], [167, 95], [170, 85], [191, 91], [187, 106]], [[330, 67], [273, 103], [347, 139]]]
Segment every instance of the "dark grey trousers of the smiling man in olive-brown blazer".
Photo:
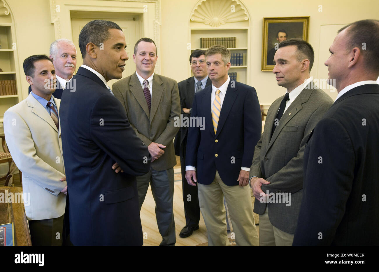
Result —
[[162, 236], [160, 245], [175, 245], [175, 221], [172, 208], [174, 203], [174, 168], [163, 171], [150, 168], [149, 173], [136, 178], [139, 210], [141, 211], [150, 184], [155, 201], [158, 230]]

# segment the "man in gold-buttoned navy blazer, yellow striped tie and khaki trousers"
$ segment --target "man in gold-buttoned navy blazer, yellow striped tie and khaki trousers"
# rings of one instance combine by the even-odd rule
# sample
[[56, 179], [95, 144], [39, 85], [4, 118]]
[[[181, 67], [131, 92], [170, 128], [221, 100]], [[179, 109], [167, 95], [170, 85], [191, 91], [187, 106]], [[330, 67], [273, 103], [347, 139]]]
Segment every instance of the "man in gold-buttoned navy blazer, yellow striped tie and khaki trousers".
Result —
[[208, 245], [230, 245], [224, 195], [236, 244], [258, 245], [250, 189], [246, 186], [251, 151], [262, 131], [257, 93], [251, 86], [230, 80], [230, 50], [226, 47], [211, 46], [205, 58], [212, 84], [194, 96], [191, 118], [198, 118], [198, 123], [205, 126], [188, 128], [186, 179], [192, 186], [197, 182]]

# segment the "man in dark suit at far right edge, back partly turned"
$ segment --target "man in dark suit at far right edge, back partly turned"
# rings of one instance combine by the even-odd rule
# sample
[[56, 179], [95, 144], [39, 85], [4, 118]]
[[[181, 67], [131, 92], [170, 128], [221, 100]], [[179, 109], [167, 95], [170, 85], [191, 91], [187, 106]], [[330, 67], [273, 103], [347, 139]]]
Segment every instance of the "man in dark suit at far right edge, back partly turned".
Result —
[[293, 245], [379, 245], [379, 20], [341, 28], [329, 51], [338, 95], [305, 146]]

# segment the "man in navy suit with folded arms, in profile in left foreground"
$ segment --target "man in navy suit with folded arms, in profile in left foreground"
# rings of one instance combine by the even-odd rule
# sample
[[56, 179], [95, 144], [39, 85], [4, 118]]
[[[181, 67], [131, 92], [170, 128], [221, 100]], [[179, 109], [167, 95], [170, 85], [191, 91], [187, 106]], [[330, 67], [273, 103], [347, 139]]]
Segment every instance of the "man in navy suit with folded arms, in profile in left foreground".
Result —
[[[142, 245], [135, 176], [149, 171], [151, 156], [106, 83], [122, 77], [125, 36], [114, 22], [94, 20], [80, 31], [79, 47], [76, 89], [63, 93], [60, 107], [70, 240]], [[114, 163], [123, 173], [111, 169]]]

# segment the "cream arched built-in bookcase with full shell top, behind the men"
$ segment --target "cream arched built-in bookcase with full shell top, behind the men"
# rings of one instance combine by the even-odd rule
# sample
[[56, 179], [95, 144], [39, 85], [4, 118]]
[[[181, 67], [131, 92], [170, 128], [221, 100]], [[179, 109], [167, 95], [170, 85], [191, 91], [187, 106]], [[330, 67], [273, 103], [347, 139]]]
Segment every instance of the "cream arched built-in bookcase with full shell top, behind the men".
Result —
[[[195, 49], [207, 50], [200, 44], [200, 38], [235, 37], [235, 47], [228, 47], [230, 52], [243, 55], [242, 65], [231, 66], [230, 73], [237, 73], [237, 81], [250, 83], [250, 16], [239, 1], [203, 0], [197, 2], [189, 16], [189, 41], [191, 52]], [[203, 40], [204, 41], [204, 40]], [[191, 54], [191, 52], [188, 53]], [[189, 71], [191, 73], [191, 71]]]

